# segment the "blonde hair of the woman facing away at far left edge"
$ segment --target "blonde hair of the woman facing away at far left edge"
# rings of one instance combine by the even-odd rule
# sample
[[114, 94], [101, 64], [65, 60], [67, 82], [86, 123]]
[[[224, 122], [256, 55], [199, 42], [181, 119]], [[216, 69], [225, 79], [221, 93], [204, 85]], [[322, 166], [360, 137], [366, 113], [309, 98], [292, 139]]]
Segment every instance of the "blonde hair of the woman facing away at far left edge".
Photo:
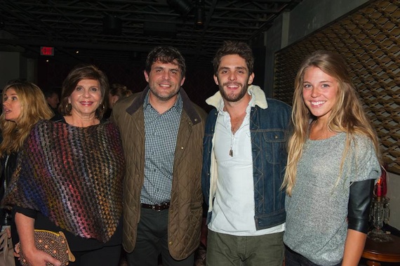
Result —
[[38, 86], [27, 81], [13, 81], [3, 89], [2, 102], [9, 88], [13, 88], [17, 93], [21, 113], [17, 121], [6, 120], [4, 113], [0, 115], [0, 129], [3, 136], [0, 157], [11, 152], [18, 152], [34, 124], [41, 119], [51, 119], [54, 115]]

